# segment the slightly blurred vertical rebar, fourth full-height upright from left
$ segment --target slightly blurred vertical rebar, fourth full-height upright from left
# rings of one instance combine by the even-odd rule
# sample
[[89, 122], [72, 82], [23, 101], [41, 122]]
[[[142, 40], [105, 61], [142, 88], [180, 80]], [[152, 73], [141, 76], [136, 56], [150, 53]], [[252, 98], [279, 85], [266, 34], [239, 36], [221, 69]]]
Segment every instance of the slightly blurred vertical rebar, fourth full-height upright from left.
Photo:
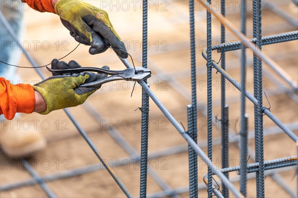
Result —
[[[221, 13], [225, 16], [225, 0], [221, 0]], [[225, 27], [221, 24], [221, 43], [225, 43]], [[222, 52], [221, 66], [225, 70], [225, 51]], [[225, 78], [221, 76], [222, 91], [222, 168], [228, 167], [228, 106], [225, 105]], [[224, 173], [228, 178], [228, 173]], [[223, 196], [228, 198], [228, 189], [223, 184]]]

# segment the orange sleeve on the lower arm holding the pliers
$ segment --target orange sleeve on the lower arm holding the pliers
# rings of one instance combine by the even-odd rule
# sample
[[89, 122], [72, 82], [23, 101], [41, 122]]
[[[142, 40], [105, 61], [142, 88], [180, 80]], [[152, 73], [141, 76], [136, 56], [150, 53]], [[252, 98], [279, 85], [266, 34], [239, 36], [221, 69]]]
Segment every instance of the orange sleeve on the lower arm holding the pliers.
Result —
[[0, 77], [0, 114], [11, 120], [16, 112], [32, 113], [35, 107], [35, 93], [31, 85], [12, 85]]

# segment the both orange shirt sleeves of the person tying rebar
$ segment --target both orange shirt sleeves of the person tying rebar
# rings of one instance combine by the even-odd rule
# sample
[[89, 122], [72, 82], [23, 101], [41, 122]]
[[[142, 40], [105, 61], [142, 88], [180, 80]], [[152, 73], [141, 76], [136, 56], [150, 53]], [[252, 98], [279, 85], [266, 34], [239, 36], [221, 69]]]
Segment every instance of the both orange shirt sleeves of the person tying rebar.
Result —
[[[40, 12], [53, 12], [55, 9], [51, 0], [22, 0], [33, 9]], [[0, 114], [11, 120], [16, 112], [32, 113], [35, 106], [35, 94], [28, 84], [12, 85], [0, 77]]]

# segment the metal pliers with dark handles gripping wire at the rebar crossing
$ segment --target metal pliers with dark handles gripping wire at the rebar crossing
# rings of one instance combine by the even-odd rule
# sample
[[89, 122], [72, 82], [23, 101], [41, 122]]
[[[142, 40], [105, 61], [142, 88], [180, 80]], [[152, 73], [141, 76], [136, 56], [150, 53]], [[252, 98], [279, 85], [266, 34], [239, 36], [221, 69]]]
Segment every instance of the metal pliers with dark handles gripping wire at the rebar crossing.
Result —
[[80, 87], [95, 87], [102, 85], [108, 82], [117, 81], [117, 80], [126, 80], [126, 81], [142, 81], [146, 80], [151, 76], [151, 71], [147, 68], [136, 67], [129, 68], [124, 70], [109, 70], [98, 67], [79, 67], [79, 68], [69, 68], [69, 69], [51, 69], [46, 67], [50, 72], [59, 72], [59, 73], [80, 73], [80, 72], [97, 72], [110, 75], [109, 77], [91, 82], [85, 83]]

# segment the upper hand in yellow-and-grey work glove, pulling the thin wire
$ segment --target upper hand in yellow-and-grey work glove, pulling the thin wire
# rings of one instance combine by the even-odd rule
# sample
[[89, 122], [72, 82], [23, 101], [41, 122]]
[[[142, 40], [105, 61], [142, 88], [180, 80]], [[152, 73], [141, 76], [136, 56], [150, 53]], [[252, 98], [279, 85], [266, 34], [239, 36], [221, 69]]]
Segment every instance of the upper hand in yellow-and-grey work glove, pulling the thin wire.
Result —
[[106, 11], [80, 0], [59, 0], [55, 11], [75, 41], [91, 46], [90, 54], [104, 52], [112, 46], [120, 57], [128, 57]]

